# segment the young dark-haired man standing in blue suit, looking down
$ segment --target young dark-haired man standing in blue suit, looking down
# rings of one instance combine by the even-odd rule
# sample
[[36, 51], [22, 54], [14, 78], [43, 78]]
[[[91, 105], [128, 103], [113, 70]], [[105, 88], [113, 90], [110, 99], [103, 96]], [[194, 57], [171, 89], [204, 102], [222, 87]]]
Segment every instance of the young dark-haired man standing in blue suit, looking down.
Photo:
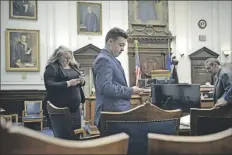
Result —
[[99, 127], [101, 111], [122, 112], [131, 109], [132, 94], [142, 92], [138, 87], [128, 87], [121, 63], [116, 59], [127, 42], [127, 34], [112, 28], [106, 35], [105, 48], [96, 57], [92, 71], [96, 89], [94, 124]]

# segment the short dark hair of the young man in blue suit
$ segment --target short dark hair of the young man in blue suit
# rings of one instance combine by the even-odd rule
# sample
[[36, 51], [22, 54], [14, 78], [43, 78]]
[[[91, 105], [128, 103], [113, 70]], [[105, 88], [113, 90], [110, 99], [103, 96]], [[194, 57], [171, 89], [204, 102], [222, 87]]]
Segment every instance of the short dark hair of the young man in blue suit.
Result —
[[116, 40], [118, 37], [123, 37], [125, 39], [128, 38], [127, 33], [120, 28], [114, 27], [112, 29], [110, 29], [107, 34], [106, 34], [106, 39], [105, 39], [105, 43], [107, 43], [107, 41], [112, 38], [114, 40]]

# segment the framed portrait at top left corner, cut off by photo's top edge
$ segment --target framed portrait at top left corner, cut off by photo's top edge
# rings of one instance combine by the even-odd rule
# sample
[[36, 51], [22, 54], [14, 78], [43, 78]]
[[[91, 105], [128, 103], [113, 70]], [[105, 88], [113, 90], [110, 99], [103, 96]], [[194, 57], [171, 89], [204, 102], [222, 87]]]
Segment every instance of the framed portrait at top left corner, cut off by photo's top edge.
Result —
[[10, 0], [9, 16], [11, 19], [38, 20], [37, 0]]

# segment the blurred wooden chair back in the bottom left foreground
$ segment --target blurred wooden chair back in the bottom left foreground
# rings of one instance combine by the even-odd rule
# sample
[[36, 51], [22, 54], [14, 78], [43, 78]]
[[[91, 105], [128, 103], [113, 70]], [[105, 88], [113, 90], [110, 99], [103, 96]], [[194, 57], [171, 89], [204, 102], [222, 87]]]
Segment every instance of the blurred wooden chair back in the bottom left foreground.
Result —
[[0, 125], [0, 154], [123, 154], [127, 153], [128, 135], [72, 141], [44, 135], [25, 127]]

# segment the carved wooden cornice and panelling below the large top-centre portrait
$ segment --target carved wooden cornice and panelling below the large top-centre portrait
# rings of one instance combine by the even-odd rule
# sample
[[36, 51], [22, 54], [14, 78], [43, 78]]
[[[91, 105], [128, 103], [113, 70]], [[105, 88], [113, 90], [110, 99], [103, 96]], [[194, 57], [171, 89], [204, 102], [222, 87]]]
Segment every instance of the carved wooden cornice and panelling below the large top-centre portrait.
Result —
[[[136, 26], [138, 28], [136, 28]], [[143, 28], [141, 28], [143, 27]], [[129, 74], [130, 74], [130, 86], [135, 85], [135, 45], [134, 41], [138, 40], [138, 50], [141, 65], [141, 78], [151, 78], [151, 70], [164, 69], [167, 61], [167, 54], [169, 50], [168, 43], [175, 38], [171, 36], [171, 33], [167, 31], [165, 26], [152, 26], [133, 24], [133, 30], [128, 32], [128, 59], [129, 59]], [[149, 29], [149, 34], [147, 33]], [[159, 33], [157, 33], [159, 32]], [[146, 63], [146, 60], [150, 58], [154, 59], [154, 64]], [[149, 66], [149, 67], [148, 67]], [[149, 69], [146, 69], [149, 68]]]

